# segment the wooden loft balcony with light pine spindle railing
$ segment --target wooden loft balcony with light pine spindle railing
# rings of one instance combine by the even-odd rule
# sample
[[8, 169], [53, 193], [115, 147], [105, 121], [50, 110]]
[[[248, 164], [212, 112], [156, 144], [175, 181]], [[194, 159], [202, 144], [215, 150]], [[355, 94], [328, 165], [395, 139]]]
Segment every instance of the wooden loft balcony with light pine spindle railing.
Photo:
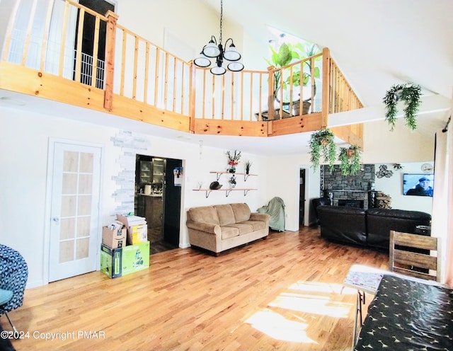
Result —
[[[279, 69], [213, 76], [122, 27], [113, 12], [104, 16], [69, 0], [29, 11], [16, 3], [1, 89], [182, 132], [249, 137], [320, 130], [330, 114], [362, 108], [328, 49]], [[297, 86], [292, 72], [305, 67], [309, 84]], [[276, 74], [287, 81], [285, 92], [274, 93]], [[363, 145], [362, 125], [332, 130]]]

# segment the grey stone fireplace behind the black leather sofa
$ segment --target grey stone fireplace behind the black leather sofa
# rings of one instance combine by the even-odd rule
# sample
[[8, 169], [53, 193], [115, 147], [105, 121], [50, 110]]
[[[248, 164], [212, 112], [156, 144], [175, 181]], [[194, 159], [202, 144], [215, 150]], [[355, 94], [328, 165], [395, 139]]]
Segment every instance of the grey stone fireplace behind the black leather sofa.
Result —
[[364, 164], [356, 175], [342, 175], [340, 166], [321, 166], [321, 196], [331, 197], [333, 206], [375, 207], [374, 164]]

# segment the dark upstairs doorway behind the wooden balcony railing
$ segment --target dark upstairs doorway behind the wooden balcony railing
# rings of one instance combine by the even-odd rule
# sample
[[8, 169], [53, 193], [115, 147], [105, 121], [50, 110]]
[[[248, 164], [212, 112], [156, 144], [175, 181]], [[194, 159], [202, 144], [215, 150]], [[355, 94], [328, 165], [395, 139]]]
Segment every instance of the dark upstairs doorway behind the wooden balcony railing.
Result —
[[[101, 15], [105, 15], [108, 10], [115, 11], [115, 6], [104, 0], [79, 0], [79, 4], [90, 8]], [[80, 81], [83, 84], [91, 85], [93, 76], [93, 53], [94, 53], [94, 33], [95, 33], [96, 18], [91, 13], [84, 15], [84, 28], [82, 33], [82, 57]], [[79, 16], [77, 16], [76, 28], [79, 27]], [[99, 38], [98, 38], [98, 60], [96, 64], [96, 88], [103, 88], [105, 78], [105, 37], [107, 34], [107, 25], [104, 21], [99, 23]], [[77, 35], [75, 45], [77, 45]], [[74, 47], [76, 52], [76, 46]], [[75, 57], [74, 57], [75, 58]], [[75, 64], [75, 59], [74, 59]], [[75, 67], [74, 67], [75, 68]], [[75, 69], [74, 69], [75, 71]], [[75, 77], [74, 77], [75, 78]]]

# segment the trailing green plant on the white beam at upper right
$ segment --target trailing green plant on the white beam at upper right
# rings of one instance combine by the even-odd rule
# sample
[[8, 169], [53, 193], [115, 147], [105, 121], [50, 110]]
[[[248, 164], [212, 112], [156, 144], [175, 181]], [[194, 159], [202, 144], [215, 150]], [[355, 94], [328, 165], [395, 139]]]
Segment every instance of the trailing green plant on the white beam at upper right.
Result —
[[417, 129], [417, 121], [415, 116], [418, 113], [420, 106], [420, 95], [422, 88], [414, 84], [395, 84], [384, 96], [384, 104], [386, 106], [385, 119], [389, 122], [391, 130], [394, 130], [396, 122], [396, 113], [398, 112], [396, 104], [398, 101], [404, 101], [406, 108], [404, 109], [404, 118], [406, 125], [411, 130]]

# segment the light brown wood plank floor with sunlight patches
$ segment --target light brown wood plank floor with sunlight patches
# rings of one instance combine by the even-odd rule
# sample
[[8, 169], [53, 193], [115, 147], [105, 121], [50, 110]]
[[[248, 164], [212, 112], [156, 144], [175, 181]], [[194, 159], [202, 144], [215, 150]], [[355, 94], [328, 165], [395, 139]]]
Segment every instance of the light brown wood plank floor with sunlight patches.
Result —
[[[125, 277], [91, 272], [27, 289], [23, 306], [9, 315], [28, 338], [13, 345], [350, 350], [356, 292], [342, 282], [355, 263], [386, 269], [388, 255], [329, 243], [306, 227], [272, 232], [219, 257], [192, 248], [157, 253], [148, 270]], [[10, 330], [6, 317], [0, 322]]]

